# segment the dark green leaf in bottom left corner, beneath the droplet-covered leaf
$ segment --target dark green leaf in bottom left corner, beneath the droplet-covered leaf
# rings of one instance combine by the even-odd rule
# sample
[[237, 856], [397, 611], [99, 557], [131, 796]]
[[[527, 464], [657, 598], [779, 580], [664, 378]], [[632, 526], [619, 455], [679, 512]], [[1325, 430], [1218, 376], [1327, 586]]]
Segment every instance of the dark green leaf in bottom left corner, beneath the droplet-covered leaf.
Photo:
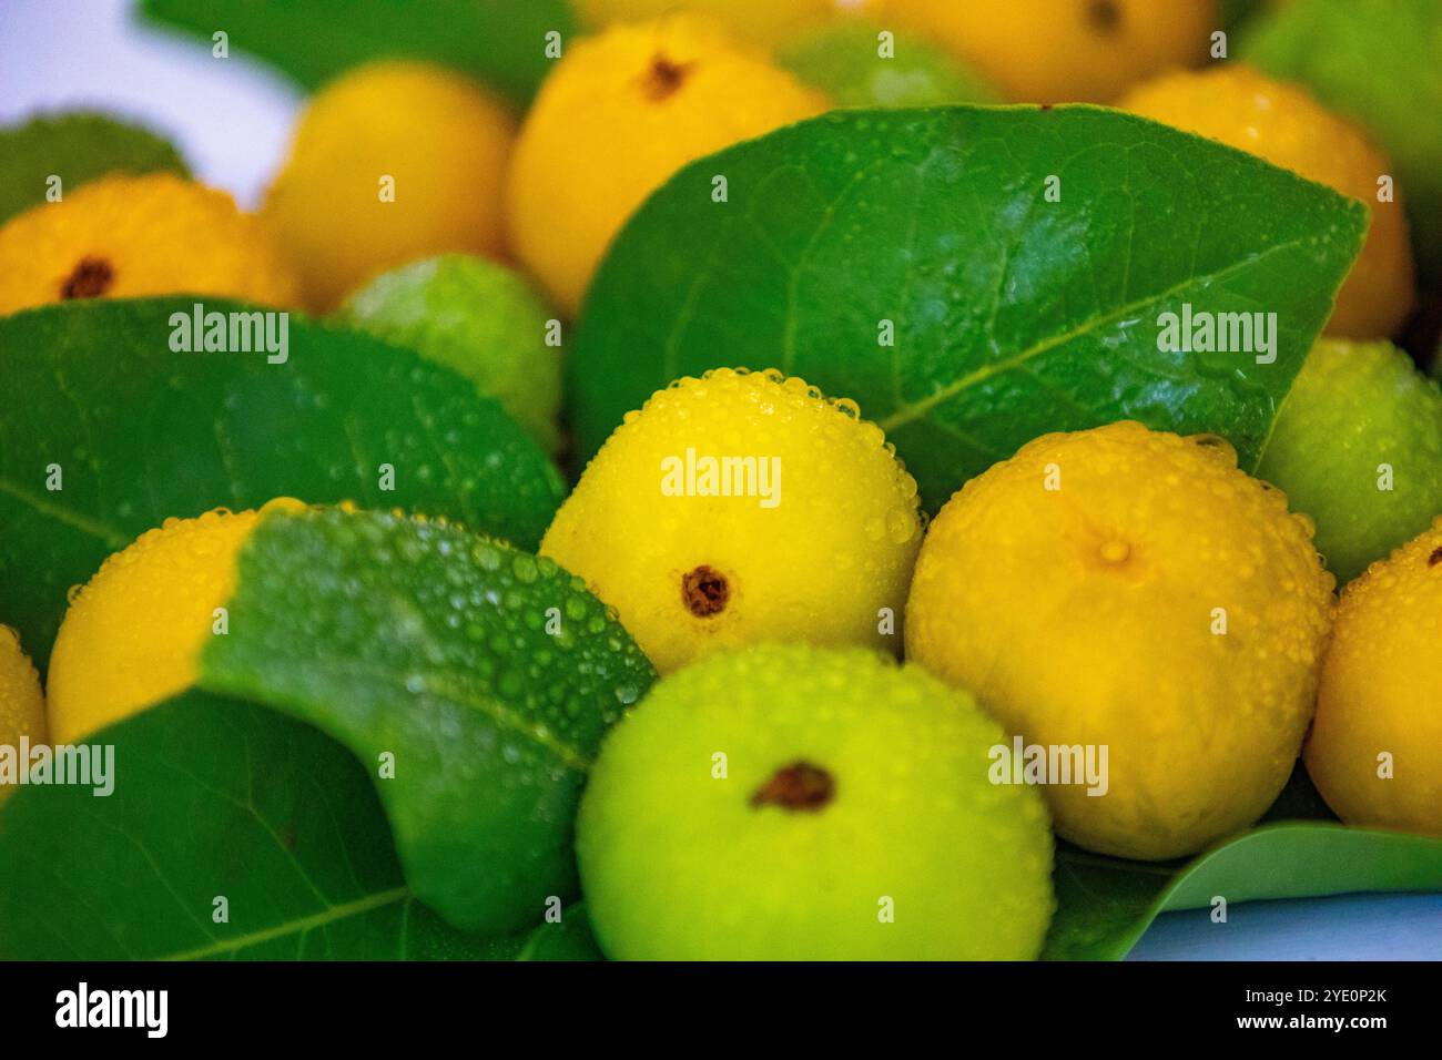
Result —
[[187, 692], [89, 743], [114, 747], [110, 796], [0, 803], [0, 960], [598, 956], [574, 907], [503, 939], [448, 927], [405, 885], [365, 770], [298, 721]]

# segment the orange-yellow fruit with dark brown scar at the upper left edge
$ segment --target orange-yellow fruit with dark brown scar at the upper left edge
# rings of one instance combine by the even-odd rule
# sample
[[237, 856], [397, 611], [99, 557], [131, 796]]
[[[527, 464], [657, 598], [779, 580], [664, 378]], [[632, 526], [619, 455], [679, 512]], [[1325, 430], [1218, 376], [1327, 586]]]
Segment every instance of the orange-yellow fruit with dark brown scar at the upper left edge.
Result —
[[179, 291], [281, 307], [297, 299], [264, 222], [173, 173], [101, 177], [0, 228], [0, 313]]

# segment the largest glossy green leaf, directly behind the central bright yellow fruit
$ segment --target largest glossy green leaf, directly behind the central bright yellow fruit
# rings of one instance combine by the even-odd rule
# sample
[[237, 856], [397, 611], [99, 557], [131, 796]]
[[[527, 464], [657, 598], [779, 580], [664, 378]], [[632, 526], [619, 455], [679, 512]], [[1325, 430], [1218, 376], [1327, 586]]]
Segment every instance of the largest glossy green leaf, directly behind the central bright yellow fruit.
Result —
[[[744, 365], [857, 399], [930, 508], [1038, 434], [1122, 418], [1223, 434], [1250, 467], [1366, 222], [1097, 107], [836, 111], [688, 166], [632, 218], [577, 336], [580, 449], [671, 379]], [[1184, 303], [1276, 313], [1275, 363], [1159, 352]]]

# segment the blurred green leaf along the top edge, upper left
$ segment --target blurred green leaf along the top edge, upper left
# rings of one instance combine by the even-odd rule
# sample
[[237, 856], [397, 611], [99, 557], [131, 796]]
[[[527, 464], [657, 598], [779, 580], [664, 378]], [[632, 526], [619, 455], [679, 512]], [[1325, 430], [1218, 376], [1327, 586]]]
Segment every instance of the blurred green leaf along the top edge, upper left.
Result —
[[206, 46], [224, 30], [249, 52], [316, 88], [378, 58], [424, 59], [489, 82], [526, 102], [551, 66], [545, 35], [570, 37], [565, 0], [144, 0], [154, 22]]

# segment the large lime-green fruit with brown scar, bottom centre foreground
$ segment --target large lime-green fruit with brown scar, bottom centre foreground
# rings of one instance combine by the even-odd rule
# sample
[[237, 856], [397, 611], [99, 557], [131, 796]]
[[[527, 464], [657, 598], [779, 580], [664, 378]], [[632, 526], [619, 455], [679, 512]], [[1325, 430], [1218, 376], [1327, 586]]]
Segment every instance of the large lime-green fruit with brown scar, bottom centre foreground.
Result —
[[970, 697], [862, 649], [763, 645], [663, 679], [581, 799], [593, 930], [624, 960], [1035, 958], [1037, 793]]

